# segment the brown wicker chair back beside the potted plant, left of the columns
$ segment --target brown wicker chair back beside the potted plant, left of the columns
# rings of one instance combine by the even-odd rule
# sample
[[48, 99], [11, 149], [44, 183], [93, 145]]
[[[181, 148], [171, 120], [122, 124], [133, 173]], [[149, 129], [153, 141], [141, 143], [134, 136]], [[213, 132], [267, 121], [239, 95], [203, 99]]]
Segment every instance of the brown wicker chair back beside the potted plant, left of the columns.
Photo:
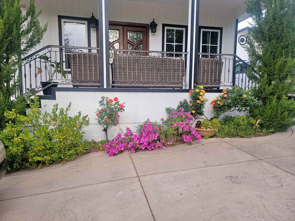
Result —
[[72, 83], [73, 87], [99, 87], [99, 54], [77, 52], [70, 55]]

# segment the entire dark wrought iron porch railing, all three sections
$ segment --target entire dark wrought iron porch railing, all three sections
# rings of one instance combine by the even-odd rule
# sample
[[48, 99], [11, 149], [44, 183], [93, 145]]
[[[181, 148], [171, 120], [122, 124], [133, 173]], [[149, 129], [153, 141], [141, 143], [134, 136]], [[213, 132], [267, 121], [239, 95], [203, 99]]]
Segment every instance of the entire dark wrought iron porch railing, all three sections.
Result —
[[[110, 49], [109, 53], [111, 87], [189, 87], [188, 52]], [[31, 96], [53, 85], [100, 87], [99, 65], [99, 48], [48, 45], [23, 58], [22, 93]], [[234, 54], [198, 53], [196, 67], [194, 83], [205, 88], [254, 86], [246, 75], [249, 64]]]

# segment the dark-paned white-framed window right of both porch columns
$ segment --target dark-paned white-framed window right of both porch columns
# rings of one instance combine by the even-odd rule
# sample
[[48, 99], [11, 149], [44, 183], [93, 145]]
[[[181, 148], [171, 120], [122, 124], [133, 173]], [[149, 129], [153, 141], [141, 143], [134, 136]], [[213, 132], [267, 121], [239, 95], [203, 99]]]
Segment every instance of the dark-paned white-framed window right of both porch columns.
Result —
[[201, 29], [201, 53], [219, 53], [220, 30]]

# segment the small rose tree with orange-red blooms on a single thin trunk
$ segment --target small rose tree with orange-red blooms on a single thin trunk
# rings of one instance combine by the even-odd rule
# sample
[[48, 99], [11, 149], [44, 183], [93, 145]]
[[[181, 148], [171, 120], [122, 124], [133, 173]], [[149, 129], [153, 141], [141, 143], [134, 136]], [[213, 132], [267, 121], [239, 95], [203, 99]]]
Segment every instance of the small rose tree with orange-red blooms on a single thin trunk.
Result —
[[125, 111], [124, 104], [120, 103], [117, 97], [109, 99], [102, 96], [98, 102], [100, 109], [97, 109], [95, 118], [100, 126], [103, 127], [105, 133], [105, 141], [108, 143], [108, 129], [119, 124], [119, 113]]

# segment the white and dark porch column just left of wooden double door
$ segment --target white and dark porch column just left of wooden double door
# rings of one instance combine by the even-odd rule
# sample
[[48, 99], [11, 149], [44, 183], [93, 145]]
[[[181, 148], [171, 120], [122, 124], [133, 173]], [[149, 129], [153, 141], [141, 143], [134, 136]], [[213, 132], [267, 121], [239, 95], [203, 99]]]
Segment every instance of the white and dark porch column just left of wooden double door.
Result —
[[98, 0], [100, 87], [110, 87], [108, 0]]

